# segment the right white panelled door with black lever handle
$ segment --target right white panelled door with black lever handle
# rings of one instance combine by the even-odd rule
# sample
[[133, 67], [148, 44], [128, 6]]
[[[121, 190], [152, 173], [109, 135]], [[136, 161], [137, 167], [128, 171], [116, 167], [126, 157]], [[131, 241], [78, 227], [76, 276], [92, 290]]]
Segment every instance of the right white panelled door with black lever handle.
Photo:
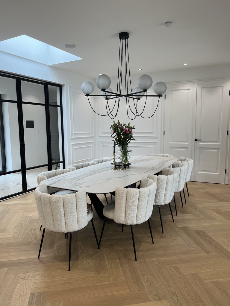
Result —
[[197, 84], [194, 181], [224, 184], [229, 80]]

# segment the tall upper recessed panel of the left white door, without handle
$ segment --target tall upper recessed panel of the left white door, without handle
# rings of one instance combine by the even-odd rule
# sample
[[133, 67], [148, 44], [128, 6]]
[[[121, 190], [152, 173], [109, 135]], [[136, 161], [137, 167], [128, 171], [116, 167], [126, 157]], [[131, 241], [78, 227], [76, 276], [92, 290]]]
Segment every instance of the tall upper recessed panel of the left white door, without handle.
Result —
[[170, 142], [188, 142], [189, 90], [172, 91]]

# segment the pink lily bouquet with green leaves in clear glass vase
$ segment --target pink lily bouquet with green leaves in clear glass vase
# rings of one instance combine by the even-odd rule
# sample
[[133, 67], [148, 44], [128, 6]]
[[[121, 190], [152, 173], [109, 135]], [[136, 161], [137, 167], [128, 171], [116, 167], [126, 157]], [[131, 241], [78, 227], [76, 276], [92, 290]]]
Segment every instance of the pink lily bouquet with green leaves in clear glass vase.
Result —
[[115, 146], [118, 145], [120, 150], [123, 150], [124, 163], [127, 164], [128, 153], [131, 152], [131, 150], [129, 150], [129, 143], [131, 140], [136, 140], [133, 137], [133, 130], [135, 128], [134, 126], [130, 125], [130, 122], [128, 125], [126, 125], [124, 123], [120, 123], [119, 121], [117, 121], [117, 123], [113, 121], [113, 125], [111, 125], [110, 129], [112, 130], [111, 137], [115, 139]]

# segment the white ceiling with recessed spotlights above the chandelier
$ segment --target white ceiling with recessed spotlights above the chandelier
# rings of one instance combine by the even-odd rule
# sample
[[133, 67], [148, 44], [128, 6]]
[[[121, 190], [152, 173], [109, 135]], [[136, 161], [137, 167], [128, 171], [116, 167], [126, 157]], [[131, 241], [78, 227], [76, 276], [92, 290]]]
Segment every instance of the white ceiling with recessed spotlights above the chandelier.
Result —
[[229, 13], [230, 0], [2, 0], [0, 41], [25, 34], [83, 58], [55, 67], [112, 77], [126, 31], [132, 74], [189, 69], [230, 63]]

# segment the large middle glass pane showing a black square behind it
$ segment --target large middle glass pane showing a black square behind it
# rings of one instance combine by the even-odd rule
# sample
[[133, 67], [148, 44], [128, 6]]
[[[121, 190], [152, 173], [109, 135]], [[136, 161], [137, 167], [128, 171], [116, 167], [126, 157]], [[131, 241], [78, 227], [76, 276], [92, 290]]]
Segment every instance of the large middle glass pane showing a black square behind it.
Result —
[[22, 110], [26, 168], [47, 164], [45, 106], [23, 104]]

